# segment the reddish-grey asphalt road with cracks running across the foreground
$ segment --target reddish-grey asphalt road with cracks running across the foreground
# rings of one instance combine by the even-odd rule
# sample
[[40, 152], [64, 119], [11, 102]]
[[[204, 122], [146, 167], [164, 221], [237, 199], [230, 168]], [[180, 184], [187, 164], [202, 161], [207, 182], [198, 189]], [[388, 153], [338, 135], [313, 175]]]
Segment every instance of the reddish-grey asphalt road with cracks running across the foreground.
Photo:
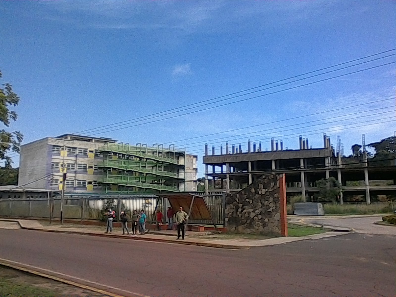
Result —
[[354, 233], [227, 250], [0, 230], [0, 258], [148, 296], [394, 296], [395, 242]]

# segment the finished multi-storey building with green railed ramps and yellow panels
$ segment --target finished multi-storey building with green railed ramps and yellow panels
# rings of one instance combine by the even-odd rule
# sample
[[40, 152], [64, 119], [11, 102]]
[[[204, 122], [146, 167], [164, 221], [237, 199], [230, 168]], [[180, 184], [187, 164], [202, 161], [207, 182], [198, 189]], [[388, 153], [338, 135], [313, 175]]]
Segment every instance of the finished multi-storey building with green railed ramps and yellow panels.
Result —
[[175, 147], [132, 146], [64, 134], [21, 146], [18, 185], [69, 193], [195, 191], [197, 156]]

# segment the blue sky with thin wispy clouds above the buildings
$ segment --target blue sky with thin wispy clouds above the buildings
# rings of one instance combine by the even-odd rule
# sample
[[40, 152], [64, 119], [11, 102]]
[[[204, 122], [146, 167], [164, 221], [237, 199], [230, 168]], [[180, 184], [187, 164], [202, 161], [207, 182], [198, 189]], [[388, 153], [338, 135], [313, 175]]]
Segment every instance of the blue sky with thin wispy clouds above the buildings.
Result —
[[[19, 119], [11, 129], [20, 129], [25, 143], [145, 116], [396, 48], [396, 1], [391, 0], [2, 1], [0, 15], [1, 82], [10, 82], [21, 97], [15, 108]], [[396, 61], [395, 57], [317, 79]], [[97, 136], [149, 145], [169, 143], [386, 99], [395, 96], [395, 65]], [[209, 146], [219, 146], [219, 140], [211, 139], [226, 137], [226, 141], [240, 133], [272, 129], [268, 135], [244, 135], [230, 144], [262, 139], [267, 148], [268, 137], [283, 137], [285, 147], [297, 148], [299, 134], [322, 129], [333, 143], [340, 135], [349, 153], [350, 145], [361, 143], [362, 133], [367, 143], [393, 135], [395, 122], [372, 124], [387, 116], [394, 119], [394, 112], [371, 115], [392, 108], [359, 114], [367, 117], [356, 119], [365, 122], [354, 129], [345, 129], [353, 124], [348, 121], [352, 116], [327, 120], [322, 126], [298, 127], [394, 104], [394, 100], [383, 101], [176, 145], [202, 155], [206, 141]], [[276, 133], [277, 127], [293, 124], [297, 129]], [[342, 129], [336, 128], [339, 126]], [[309, 136], [313, 147], [322, 145], [322, 130]], [[296, 136], [284, 137], [291, 133]], [[189, 145], [193, 142], [198, 144]]]

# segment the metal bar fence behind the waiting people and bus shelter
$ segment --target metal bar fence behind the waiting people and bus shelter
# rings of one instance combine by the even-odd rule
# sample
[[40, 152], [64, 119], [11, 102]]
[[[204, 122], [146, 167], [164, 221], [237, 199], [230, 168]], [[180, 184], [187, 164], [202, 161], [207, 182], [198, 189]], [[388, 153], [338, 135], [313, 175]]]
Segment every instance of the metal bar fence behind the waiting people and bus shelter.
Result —
[[[201, 194], [202, 195], [202, 194]], [[224, 200], [222, 193], [202, 195], [208, 204], [215, 224], [224, 223]], [[119, 215], [120, 210], [129, 216], [134, 210], [144, 209], [147, 220], [154, 215], [157, 198], [84, 198], [65, 197], [63, 204], [64, 219], [103, 220], [103, 212], [110, 206]], [[164, 199], [165, 200], [165, 199]], [[162, 198], [158, 202], [158, 209], [166, 215], [166, 205]], [[164, 203], [165, 202], [165, 203]], [[18, 199], [0, 200], [0, 216], [32, 217], [38, 219], [58, 219], [61, 217], [61, 199]], [[194, 224], [212, 224], [211, 220], [190, 220]]]

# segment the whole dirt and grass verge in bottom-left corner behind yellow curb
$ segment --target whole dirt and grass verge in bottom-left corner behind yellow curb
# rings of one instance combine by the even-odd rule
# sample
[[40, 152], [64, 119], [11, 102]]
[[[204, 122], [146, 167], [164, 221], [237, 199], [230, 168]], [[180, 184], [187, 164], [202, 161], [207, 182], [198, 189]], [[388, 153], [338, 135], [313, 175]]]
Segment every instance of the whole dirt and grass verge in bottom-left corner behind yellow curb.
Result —
[[0, 296], [109, 297], [0, 265]]

